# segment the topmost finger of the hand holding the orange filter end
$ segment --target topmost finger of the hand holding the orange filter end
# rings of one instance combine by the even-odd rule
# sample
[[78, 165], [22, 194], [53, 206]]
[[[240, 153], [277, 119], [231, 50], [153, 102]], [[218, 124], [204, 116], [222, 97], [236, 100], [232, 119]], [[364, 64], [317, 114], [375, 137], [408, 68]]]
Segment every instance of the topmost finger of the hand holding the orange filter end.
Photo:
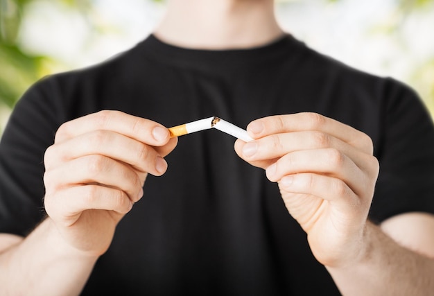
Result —
[[151, 146], [162, 146], [170, 139], [168, 129], [155, 121], [120, 111], [104, 110], [63, 123], [55, 134], [55, 142], [94, 130], [111, 130]]

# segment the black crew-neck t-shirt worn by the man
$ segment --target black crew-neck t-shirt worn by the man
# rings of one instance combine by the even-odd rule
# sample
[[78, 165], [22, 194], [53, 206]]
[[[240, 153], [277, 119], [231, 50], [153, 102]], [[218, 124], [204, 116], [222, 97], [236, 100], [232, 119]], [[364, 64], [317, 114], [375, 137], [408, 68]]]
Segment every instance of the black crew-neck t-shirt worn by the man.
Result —
[[[44, 150], [60, 124], [105, 109], [167, 127], [214, 115], [245, 127], [272, 114], [318, 112], [372, 137], [381, 165], [374, 222], [434, 213], [433, 125], [408, 87], [290, 35], [224, 51], [150, 35], [96, 67], [45, 78], [21, 98], [0, 145], [0, 232], [26, 235], [43, 218]], [[167, 173], [148, 177], [83, 295], [339, 294], [277, 185], [233, 144], [218, 130], [179, 139]]]

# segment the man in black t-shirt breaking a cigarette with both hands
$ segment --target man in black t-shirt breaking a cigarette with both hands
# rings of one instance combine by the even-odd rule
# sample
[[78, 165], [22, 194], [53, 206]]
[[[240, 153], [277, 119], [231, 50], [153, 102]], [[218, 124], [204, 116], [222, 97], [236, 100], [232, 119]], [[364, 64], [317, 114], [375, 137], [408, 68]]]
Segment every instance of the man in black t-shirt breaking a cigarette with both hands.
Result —
[[[214, 130], [169, 137], [212, 115], [254, 141], [234, 153]], [[134, 49], [17, 105], [0, 150], [0, 286], [429, 295], [433, 148], [413, 92], [286, 35], [271, 0], [172, 0]]]

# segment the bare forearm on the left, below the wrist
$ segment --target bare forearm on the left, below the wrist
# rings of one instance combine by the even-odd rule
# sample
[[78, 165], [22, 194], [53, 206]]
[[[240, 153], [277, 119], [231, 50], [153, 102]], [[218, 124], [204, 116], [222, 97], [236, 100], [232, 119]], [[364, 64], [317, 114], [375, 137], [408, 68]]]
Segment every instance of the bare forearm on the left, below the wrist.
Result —
[[78, 295], [96, 256], [64, 243], [50, 218], [0, 254], [1, 295]]

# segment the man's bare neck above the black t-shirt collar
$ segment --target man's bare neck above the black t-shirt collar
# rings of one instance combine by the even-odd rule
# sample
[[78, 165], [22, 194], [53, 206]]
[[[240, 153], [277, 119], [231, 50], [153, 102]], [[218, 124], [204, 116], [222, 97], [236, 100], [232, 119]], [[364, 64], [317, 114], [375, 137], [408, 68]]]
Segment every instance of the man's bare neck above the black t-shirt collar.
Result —
[[160, 40], [193, 49], [243, 49], [284, 34], [272, 0], [171, 0], [155, 29]]

